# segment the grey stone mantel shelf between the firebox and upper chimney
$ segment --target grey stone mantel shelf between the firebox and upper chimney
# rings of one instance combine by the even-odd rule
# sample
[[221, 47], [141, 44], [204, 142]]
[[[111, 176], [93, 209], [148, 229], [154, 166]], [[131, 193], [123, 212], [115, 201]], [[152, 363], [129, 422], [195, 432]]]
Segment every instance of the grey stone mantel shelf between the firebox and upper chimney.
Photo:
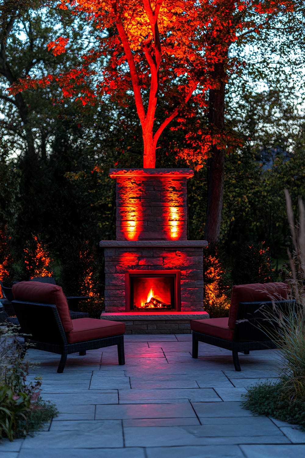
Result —
[[140, 248], [140, 247], [166, 247], [166, 248], [201, 248], [208, 246], [206, 240], [101, 240], [102, 248]]

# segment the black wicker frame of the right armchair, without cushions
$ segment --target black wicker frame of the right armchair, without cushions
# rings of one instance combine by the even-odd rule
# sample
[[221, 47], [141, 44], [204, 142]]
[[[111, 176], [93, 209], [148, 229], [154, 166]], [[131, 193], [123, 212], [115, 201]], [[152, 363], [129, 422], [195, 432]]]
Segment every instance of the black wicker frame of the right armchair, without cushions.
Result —
[[235, 323], [233, 340], [225, 340], [209, 334], [193, 331], [192, 357], [198, 358], [198, 342], [215, 345], [232, 351], [235, 371], [241, 371], [238, 352], [249, 354], [253, 350], [279, 348], [278, 326], [273, 320], [273, 307], [285, 312], [295, 306], [294, 300], [266, 302], [240, 302]]

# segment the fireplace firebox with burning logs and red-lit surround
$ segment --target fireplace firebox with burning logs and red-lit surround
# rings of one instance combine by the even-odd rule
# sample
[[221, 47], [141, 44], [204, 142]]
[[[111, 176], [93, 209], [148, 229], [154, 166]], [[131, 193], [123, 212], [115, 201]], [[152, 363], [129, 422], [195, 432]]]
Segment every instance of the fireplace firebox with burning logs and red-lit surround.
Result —
[[126, 311], [161, 312], [181, 310], [179, 270], [125, 272]]

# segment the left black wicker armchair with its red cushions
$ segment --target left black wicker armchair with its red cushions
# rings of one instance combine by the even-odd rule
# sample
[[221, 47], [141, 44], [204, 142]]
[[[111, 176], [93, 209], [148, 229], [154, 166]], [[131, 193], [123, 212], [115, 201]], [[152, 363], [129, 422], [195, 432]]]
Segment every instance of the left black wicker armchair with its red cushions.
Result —
[[[31, 337], [25, 341], [35, 349], [61, 355], [57, 372], [64, 371], [67, 355], [118, 345], [118, 363], [125, 364], [125, 324], [79, 318], [71, 320], [68, 303], [60, 286], [39, 282], [20, 282], [12, 288], [12, 304], [21, 331]], [[26, 351], [26, 350], [25, 350]]]

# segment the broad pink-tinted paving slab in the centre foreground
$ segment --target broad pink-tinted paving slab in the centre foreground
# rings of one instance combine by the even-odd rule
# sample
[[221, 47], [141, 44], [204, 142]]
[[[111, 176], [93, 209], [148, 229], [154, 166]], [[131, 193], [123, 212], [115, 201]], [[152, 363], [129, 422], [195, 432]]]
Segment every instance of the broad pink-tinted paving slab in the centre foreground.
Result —
[[[96, 420], [127, 418], [195, 417], [189, 403], [96, 405]], [[270, 421], [270, 420], [269, 420]], [[270, 421], [271, 423], [271, 421]], [[275, 425], [273, 425], [276, 427]]]

